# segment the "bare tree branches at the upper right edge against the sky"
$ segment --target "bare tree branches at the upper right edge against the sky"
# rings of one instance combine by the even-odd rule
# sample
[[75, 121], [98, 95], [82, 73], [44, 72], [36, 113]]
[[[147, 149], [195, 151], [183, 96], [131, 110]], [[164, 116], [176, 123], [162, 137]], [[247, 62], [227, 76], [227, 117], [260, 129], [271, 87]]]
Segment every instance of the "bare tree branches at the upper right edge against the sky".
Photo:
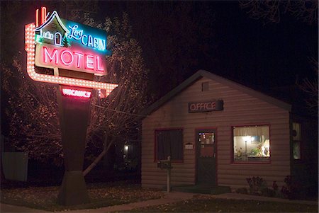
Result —
[[[266, 22], [279, 23], [281, 16], [289, 13], [298, 20], [308, 25], [318, 26], [318, 1], [240, 1], [240, 6], [247, 9], [250, 17], [263, 19]], [[318, 35], [317, 35], [318, 37]], [[318, 49], [315, 57], [310, 57], [310, 64], [314, 68], [314, 77], [303, 79], [297, 83], [301, 91], [308, 94], [305, 98], [308, 111], [318, 116]]]

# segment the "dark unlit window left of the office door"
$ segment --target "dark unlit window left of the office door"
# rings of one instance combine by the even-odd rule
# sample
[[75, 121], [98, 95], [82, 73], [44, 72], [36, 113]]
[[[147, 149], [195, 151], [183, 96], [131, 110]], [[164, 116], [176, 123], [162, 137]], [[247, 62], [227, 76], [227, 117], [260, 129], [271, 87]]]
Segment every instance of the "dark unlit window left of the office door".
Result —
[[172, 161], [183, 160], [183, 131], [182, 129], [157, 130], [156, 160], [167, 160], [171, 156]]

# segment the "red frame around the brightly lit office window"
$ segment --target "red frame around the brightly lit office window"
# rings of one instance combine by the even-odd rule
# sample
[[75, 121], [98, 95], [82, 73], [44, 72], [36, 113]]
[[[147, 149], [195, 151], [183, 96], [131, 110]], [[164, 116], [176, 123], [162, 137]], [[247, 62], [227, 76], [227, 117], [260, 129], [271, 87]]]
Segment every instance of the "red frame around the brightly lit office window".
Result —
[[[234, 127], [260, 127], [267, 126], [269, 129], [269, 158], [267, 161], [235, 161], [234, 159]], [[232, 164], [271, 164], [272, 163], [272, 134], [271, 125], [269, 123], [247, 124], [247, 125], [231, 125], [230, 126], [230, 163]]]

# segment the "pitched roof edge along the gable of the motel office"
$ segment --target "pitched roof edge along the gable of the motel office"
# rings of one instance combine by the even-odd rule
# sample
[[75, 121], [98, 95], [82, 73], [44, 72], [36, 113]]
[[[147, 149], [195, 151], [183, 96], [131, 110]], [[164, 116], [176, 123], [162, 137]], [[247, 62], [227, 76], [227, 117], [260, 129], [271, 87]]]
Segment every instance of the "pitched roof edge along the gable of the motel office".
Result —
[[264, 93], [255, 91], [252, 88], [243, 86], [242, 84], [238, 84], [235, 81], [230, 81], [229, 79], [225, 79], [216, 74], [212, 74], [211, 72], [205, 70], [198, 70], [194, 75], [190, 76], [189, 79], [186, 79], [181, 84], [179, 84], [179, 86], [174, 88], [172, 91], [169, 91], [169, 93], [167, 93], [165, 96], [159, 98], [159, 100], [150, 105], [150, 107], [148, 107], [146, 110], [142, 112], [142, 115], [150, 115], [152, 112], [160, 108], [164, 103], [167, 103], [167, 101], [169, 101], [171, 98], [173, 98], [178, 93], [183, 91], [185, 88], [191, 86], [191, 84], [194, 84], [195, 81], [198, 81], [203, 77], [217, 81], [218, 83], [229, 86], [230, 88], [235, 88], [236, 90], [241, 91], [242, 93], [246, 93], [250, 96], [253, 96], [254, 98], [259, 98], [261, 100], [266, 101], [267, 103], [271, 103], [272, 105], [276, 105], [279, 108], [283, 108], [284, 110], [291, 112], [291, 105], [289, 103], [285, 103], [284, 101], [278, 100], [271, 96], [267, 96]]

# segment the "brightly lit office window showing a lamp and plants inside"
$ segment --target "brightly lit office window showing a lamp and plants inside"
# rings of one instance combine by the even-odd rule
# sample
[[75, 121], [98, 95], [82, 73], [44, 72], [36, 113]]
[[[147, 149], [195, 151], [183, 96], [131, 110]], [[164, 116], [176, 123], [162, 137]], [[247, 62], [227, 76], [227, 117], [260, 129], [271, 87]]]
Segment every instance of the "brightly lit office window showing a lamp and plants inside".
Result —
[[269, 126], [233, 127], [233, 159], [235, 162], [269, 161]]

